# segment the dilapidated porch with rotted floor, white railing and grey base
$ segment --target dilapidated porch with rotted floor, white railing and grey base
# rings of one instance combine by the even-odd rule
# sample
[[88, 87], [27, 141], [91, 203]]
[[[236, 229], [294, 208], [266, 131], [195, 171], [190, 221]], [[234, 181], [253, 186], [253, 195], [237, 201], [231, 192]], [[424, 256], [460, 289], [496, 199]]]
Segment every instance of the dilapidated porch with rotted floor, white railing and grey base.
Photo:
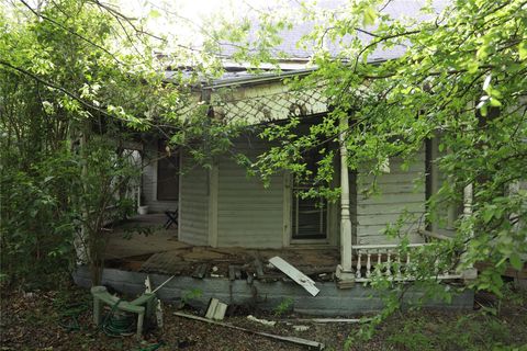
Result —
[[[339, 280], [335, 274], [340, 263], [337, 248], [192, 246], [177, 239], [176, 227], [165, 229], [165, 220], [162, 214], [136, 216], [109, 233], [102, 284], [120, 293], [141, 294], [147, 275], [154, 286], [175, 275], [159, 290], [159, 298], [184, 301], [194, 307], [206, 308], [214, 297], [229, 305], [267, 310], [288, 302], [301, 314], [354, 316], [380, 310], [384, 305], [378, 292], [363, 283], [374, 274], [392, 274], [397, 279], [397, 267], [403, 267], [386, 264], [402, 260], [397, 259], [395, 247], [357, 247], [352, 251], [354, 280]], [[269, 258], [274, 256], [309, 275], [319, 293], [311, 296], [301, 285], [269, 264]], [[381, 263], [377, 267], [375, 262]], [[80, 267], [74, 279], [81, 286], [89, 287], [91, 284], [87, 267]], [[456, 280], [450, 280], [450, 283], [457, 284]], [[412, 305], [422, 297], [422, 291], [410, 287], [404, 304]], [[473, 292], [466, 291], [455, 295], [449, 305], [429, 301], [425, 306], [470, 309], [472, 304]]]

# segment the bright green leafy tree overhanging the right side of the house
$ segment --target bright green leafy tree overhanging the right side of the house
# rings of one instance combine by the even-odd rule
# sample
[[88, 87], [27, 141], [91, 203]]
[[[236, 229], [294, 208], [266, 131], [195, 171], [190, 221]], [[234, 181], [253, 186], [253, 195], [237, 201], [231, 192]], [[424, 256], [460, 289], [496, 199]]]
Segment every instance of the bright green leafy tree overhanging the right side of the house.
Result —
[[[461, 253], [460, 270], [490, 262], [470, 286], [500, 295], [502, 273], [507, 267], [522, 269], [527, 253], [526, 3], [452, 1], [439, 15], [428, 3], [419, 19], [392, 18], [381, 11], [386, 5], [390, 1], [359, 0], [324, 10], [309, 2], [299, 10], [295, 4], [300, 22], [313, 26], [298, 46], [313, 48], [310, 64], [315, 69], [290, 84], [321, 90], [332, 109], [307, 134], [296, 133], [295, 118], [267, 127], [261, 137], [279, 146], [254, 162], [253, 171], [264, 179], [280, 169], [302, 177], [309, 171], [302, 155], [337, 140], [345, 131], [348, 167], [367, 167], [362, 176], [377, 176], [386, 159], [410, 162], [427, 140], [438, 139], [441, 152], [433, 162], [448, 181], [428, 199], [427, 220], [437, 222], [441, 208], [462, 204], [463, 190], [470, 186], [473, 197], [468, 196], [471, 213], [456, 223], [455, 239], [429, 247], [422, 262], [447, 261], [452, 253]], [[284, 20], [291, 15], [287, 10], [264, 13], [257, 31], [271, 29], [270, 37], [280, 36], [292, 25]], [[217, 34], [245, 39], [236, 53], [239, 60], [266, 61], [266, 55], [254, 55], [265, 48], [248, 39], [250, 31], [229, 25]], [[359, 39], [359, 33], [368, 41]], [[276, 45], [268, 44], [267, 50]], [[332, 45], [339, 46], [338, 53], [327, 50]], [[375, 50], [394, 47], [403, 48], [401, 57], [368, 63]], [[349, 127], [343, 129], [340, 121], [348, 116]], [[330, 184], [334, 157], [325, 154], [319, 162], [318, 183]], [[321, 191], [325, 189], [312, 193]], [[404, 250], [406, 233], [394, 224], [386, 234], [401, 237]], [[430, 264], [418, 267], [422, 280], [416, 284], [430, 287]], [[390, 282], [381, 285], [393, 288]], [[437, 281], [431, 285], [429, 292], [442, 295]]]

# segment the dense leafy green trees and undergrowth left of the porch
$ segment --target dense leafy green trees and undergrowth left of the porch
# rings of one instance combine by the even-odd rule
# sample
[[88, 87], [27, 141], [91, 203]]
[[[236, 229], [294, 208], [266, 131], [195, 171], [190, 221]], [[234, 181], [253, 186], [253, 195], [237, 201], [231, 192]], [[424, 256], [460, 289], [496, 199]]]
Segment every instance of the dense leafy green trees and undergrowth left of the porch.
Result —
[[162, 83], [157, 44], [113, 7], [0, 9], [2, 276], [42, 282], [71, 267], [76, 244], [97, 284], [104, 223], [130, 211], [119, 194], [138, 174], [124, 144], [165, 133], [155, 116], [179, 92]]

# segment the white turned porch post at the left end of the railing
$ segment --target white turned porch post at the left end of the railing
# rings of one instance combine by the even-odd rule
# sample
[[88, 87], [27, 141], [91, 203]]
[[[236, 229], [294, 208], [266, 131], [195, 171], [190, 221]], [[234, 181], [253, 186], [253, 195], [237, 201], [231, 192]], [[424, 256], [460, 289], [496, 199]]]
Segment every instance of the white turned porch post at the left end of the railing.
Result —
[[340, 265], [337, 275], [351, 272], [351, 219], [349, 216], [349, 174], [348, 174], [348, 149], [346, 148], [346, 134], [348, 117], [340, 120]]

